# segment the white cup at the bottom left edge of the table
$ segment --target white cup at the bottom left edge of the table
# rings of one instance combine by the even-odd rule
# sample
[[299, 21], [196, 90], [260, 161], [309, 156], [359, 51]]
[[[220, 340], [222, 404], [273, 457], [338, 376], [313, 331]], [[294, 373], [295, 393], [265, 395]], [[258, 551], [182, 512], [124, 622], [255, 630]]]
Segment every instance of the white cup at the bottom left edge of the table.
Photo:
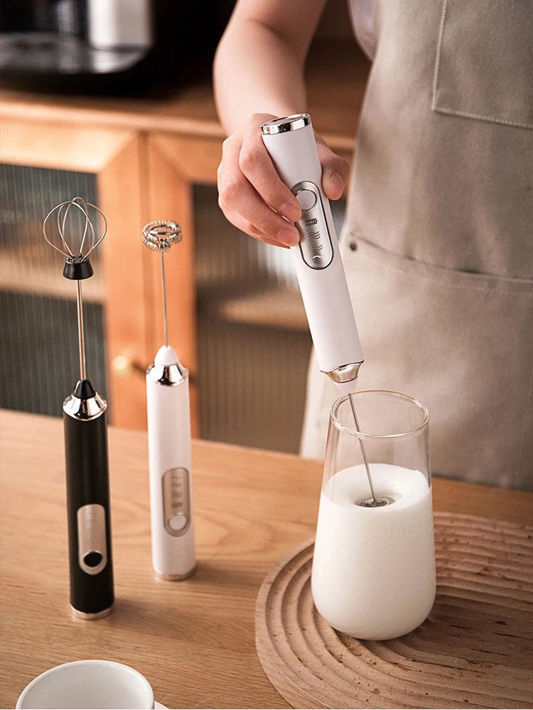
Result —
[[154, 691], [144, 675], [123, 663], [74, 661], [33, 679], [16, 702], [16, 710], [27, 708], [152, 710]]

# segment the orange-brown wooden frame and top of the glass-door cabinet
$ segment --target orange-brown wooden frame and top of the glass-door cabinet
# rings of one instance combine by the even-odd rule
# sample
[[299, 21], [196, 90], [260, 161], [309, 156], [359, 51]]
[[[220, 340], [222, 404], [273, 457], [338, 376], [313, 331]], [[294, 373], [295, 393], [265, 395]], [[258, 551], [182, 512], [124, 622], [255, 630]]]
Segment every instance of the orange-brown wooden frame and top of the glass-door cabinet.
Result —
[[[367, 68], [355, 43], [326, 43], [308, 64], [313, 122], [348, 160]], [[2, 92], [0, 116], [0, 162], [95, 175], [97, 202], [109, 223], [99, 247], [101, 298], [111, 419], [120, 427], [146, 426], [144, 369], [163, 342], [159, 260], [142, 244], [141, 229], [152, 219], [181, 224], [183, 242], [166, 258], [169, 332], [190, 369], [198, 435], [192, 188], [215, 184], [224, 138], [210, 81], [159, 99]]]

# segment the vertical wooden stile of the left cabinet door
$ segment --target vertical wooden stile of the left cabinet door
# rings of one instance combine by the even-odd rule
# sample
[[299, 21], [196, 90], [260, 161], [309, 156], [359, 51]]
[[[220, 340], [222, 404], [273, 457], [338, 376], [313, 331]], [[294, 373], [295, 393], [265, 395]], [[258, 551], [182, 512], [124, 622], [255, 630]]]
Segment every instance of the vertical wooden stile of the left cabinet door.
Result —
[[[144, 138], [135, 137], [97, 173], [98, 204], [107, 218], [107, 236], [100, 248], [106, 289], [109, 416], [112, 423], [135, 429], [146, 428], [144, 373], [154, 358], [147, 337], [154, 299], [144, 269], [147, 250], [141, 241], [142, 228], [148, 222], [145, 149]], [[117, 370], [117, 356], [135, 366]]]

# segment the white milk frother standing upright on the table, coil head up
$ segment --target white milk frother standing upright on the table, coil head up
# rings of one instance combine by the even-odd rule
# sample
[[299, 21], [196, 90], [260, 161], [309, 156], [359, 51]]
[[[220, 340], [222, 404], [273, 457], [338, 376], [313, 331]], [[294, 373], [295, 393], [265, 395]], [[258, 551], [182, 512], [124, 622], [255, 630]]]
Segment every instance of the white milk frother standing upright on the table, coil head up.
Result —
[[165, 344], [146, 371], [152, 566], [164, 579], [195, 571], [193, 480], [190, 470], [189, 373], [168, 344], [164, 254], [182, 239], [172, 221], [150, 222], [143, 243], [161, 254]]

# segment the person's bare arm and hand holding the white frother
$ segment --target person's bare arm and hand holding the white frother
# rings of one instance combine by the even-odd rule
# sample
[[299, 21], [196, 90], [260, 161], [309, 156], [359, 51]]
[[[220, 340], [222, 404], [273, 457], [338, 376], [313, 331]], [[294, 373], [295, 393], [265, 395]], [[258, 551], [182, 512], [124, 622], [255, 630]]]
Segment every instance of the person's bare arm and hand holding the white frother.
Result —
[[[260, 126], [305, 111], [303, 65], [326, 1], [239, 0], [215, 56], [215, 101], [230, 134], [218, 169], [219, 204], [232, 224], [276, 246], [298, 243], [291, 222], [301, 209], [266, 153]], [[317, 141], [323, 187], [336, 200], [348, 164]]]

